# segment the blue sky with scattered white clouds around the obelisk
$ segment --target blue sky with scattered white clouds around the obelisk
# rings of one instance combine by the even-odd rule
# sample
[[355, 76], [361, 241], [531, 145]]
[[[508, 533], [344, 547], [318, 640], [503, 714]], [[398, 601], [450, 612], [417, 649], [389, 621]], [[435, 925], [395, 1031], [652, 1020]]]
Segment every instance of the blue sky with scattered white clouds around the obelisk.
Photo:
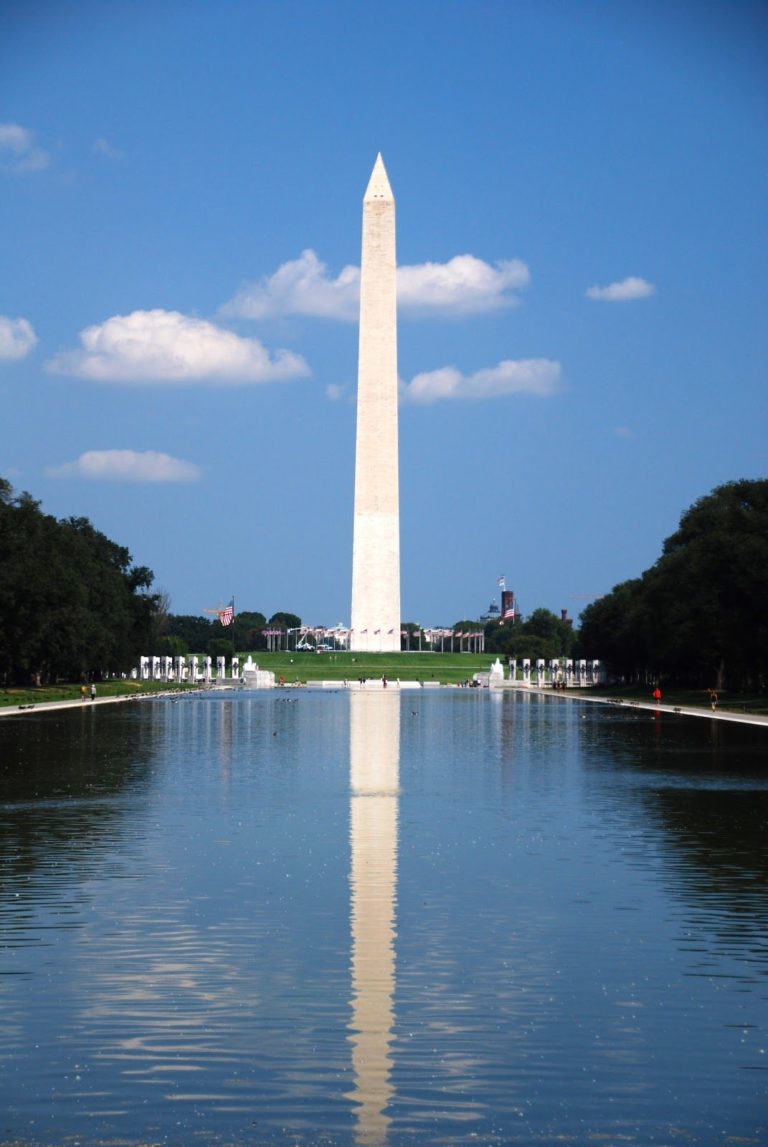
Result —
[[174, 612], [348, 623], [361, 201], [403, 619], [572, 616], [766, 475], [768, 7], [0, 5], [0, 474]]

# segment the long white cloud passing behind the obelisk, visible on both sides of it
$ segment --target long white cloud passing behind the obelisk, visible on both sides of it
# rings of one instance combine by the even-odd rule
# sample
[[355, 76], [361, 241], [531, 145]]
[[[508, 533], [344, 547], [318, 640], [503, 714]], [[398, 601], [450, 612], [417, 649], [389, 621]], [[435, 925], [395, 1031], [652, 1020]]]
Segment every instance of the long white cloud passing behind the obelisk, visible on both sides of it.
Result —
[[[478, 314], [515, 305], [512, 291], [530, 280], [519, 259], [492, 266], [473, 255], [457, 255], [448, 263], [398, 267], [398, 306], [417, 314]], [[354, 322], [359, 303], [360, 268], [346, 266], [332, 279], [315, 252], [306, 250], [273, 275], [245, 283], [221, 311], [243, 319], [306, 314]]]

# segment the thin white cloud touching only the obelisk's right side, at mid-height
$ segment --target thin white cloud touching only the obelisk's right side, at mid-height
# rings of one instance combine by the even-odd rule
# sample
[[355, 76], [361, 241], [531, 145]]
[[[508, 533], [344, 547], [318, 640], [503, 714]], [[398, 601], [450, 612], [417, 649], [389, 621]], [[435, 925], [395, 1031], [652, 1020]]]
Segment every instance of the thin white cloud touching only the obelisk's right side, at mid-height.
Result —
[[438, 403], [444, 398], [501, 398], [506, 395], [535, 395], [546, 398], [558, 390], [561, 365], [551, 359], [504, 359], [497, 366], [462, 374], [453, 366], [417, 374], [401, 383], [400, 395], [408, 403]]

